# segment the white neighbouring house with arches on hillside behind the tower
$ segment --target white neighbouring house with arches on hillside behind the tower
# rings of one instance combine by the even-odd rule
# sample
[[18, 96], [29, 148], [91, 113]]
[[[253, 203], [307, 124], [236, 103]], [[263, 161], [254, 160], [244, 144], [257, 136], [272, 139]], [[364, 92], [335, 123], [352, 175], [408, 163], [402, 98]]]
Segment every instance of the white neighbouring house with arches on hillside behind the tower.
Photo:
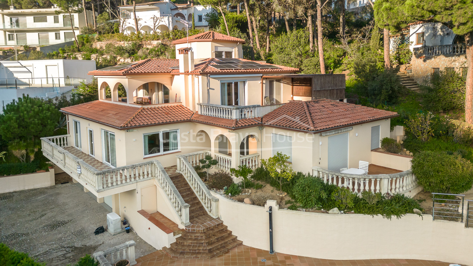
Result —
[[[197, 28], [208, 27], [205, 14], [213, 9], [210, 6], [194, 6], [191, 3], [175, 4], [169, 0], [148, 2], [136, 5], [136, 17], [141, 32], [164, 32], [174, 29], [185, 30], [186, 24], [192, 27], [192, 15], [194, 14], [194, 25]], [[123, 19], [121, 31], [124, 34], [136, 32], [133, 18], [133, 5], [120, 6], [120, 17]]]

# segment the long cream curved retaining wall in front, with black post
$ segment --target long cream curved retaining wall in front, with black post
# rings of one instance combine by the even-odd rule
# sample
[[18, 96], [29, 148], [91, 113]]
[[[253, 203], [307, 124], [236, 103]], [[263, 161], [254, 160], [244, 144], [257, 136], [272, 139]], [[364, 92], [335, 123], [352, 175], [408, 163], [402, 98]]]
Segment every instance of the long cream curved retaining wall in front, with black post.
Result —
[[220, 218], [243, 244], [269, 250], [272, 206], [274, 250], [324, 259], [427, 259], [473, 265], [473, 229], [464, 223], [432, 221], [407, 214], [384, 219], [363, 214], [324, 214], [279, 210], [219, 198]]

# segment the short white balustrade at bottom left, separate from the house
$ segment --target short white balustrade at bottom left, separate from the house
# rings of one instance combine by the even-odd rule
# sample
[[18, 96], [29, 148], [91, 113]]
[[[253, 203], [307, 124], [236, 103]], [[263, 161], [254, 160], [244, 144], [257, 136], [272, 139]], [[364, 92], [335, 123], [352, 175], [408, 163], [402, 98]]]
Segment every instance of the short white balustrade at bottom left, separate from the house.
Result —
[[135, 245], [135, 241], [130, 240], [116, 247], [96, 252], [92, 256], [101, 266], [112, 266], [122, 259], [130, 261], [130, 266], [135, 265]]

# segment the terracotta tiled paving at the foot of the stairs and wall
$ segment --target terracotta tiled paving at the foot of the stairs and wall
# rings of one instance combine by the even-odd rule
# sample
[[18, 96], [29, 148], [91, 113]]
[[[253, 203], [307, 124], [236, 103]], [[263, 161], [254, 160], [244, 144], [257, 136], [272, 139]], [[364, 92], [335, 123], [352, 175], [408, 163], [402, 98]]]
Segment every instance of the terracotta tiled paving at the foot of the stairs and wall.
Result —
[[[263, 262], [262, 259], [266, 259]], [[269, 254], [269, 251], [245, 245], [236, 247], [228, 253], [211, 259], [174, 259], [158, 250], [136, 260], [136, 266], [448, 266], [446, 262], [418, 259], [367, 259], [333, 260], [293, 256], [282, 253]]]

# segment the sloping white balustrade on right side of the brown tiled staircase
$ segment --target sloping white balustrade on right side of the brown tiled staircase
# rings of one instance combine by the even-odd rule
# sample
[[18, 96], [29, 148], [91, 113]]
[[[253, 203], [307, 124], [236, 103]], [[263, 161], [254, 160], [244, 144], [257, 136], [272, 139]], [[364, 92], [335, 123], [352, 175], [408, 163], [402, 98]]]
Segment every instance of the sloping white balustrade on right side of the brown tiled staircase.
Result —
[[177, 155], [177, 172], [181, 173], [191, 186], [207, 213], [213, 218], [219, 217], [219, 199], [210, 194], [209, 189], [197, 175], [191, 163], [184, 155]]

